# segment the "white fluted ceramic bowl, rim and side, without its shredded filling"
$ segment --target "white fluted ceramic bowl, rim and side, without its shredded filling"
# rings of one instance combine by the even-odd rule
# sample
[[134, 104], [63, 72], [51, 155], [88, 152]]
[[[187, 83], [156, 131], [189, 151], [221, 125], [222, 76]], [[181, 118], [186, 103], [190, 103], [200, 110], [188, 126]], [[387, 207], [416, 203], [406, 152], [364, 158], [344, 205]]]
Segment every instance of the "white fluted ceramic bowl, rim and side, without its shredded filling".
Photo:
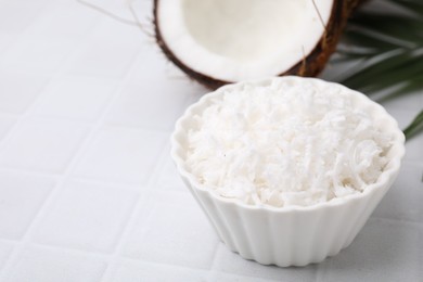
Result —
[[[388, 164], [379, 180], [359, 194], [312, 206], [279, 208], [247, 205], [240, 200], [226, 198], [198, 183], [184, 165], [187, 132], [192, 125], [192, 116], [201, 113], [211, 98], [221, 95], [226, 89], [236, 90], [245, 85], [265, 86], [272, 79], [284, 79], [291, 84], [307, 80], [336, 87], [350, 93], [357, 106], [371, 113], [377, 120], [377, 127], [394, 136], [394, 144], [387, 154]], [[221, 241], [246, 259], [281, 267], [319, 262], [347, 247], [393, 184], [403, 154], [402, 131], [381, 105], [359, 92], [316, 78], [282, 77], [225, 86], [191, 105], [177, 121], [171, 137], [171, 156], [177, 169]]]

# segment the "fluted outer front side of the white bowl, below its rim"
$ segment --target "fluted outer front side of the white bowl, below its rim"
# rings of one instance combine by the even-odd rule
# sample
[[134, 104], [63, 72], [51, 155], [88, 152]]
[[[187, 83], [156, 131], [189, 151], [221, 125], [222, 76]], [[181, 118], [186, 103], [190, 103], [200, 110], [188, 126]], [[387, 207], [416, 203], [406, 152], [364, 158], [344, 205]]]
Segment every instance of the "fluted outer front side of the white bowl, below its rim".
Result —
[[287, 267], [320, 262], [347, 247], [387, 188], [357, 201], [287, 213], [247, 209], [202, 190], [191, 192], [231, 251], [262, 265]]

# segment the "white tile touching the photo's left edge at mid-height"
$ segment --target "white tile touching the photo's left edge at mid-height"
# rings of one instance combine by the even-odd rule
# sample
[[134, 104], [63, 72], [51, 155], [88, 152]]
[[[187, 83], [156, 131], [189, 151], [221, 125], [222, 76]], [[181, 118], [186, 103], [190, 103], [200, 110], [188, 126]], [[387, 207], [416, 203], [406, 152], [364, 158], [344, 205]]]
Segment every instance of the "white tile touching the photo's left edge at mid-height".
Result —
[[0, 152], [0, 166], [62, 172], [89, 128], [59, 119], [28, 117], [13, 128]]

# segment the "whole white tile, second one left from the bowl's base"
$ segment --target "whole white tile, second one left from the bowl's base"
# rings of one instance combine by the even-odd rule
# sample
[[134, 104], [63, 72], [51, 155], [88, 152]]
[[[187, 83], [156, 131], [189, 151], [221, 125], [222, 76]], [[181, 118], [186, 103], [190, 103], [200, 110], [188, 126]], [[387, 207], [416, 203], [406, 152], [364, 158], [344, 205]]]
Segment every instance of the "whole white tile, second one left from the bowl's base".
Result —
[[119, 187], [68, 181], [34, 231], [34, 242], [110, 253], [139, 195]]

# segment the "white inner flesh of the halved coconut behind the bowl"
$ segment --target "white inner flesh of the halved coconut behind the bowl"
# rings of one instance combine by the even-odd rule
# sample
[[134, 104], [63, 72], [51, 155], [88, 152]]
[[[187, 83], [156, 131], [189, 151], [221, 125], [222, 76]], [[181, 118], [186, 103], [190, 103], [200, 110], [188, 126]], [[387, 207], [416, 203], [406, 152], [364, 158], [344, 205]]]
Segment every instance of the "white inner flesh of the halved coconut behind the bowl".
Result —
[[317, 46], [333, 0], [159, 0], [171, 53], [205, 76], [240, 81], [282, 74]]

